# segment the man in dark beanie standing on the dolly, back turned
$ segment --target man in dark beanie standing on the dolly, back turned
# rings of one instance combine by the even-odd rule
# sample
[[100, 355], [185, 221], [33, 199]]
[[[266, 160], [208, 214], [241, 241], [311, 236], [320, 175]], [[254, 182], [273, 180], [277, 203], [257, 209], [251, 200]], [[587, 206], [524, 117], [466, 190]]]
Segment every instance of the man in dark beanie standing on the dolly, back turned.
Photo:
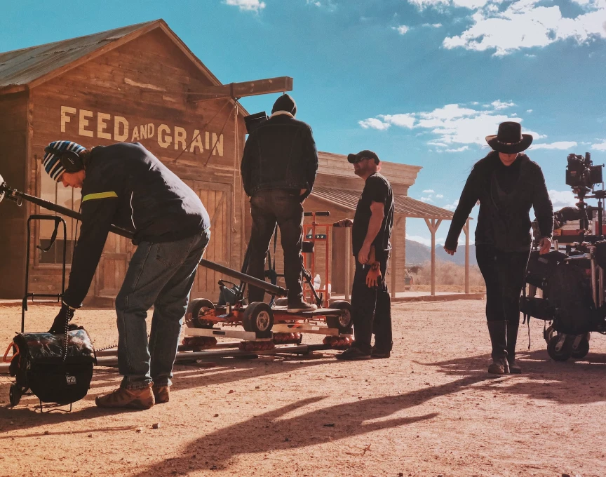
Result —
[[[242, 157], [242, 182], [250, 196], [253, 230], [248, 273], [264, 280], [265, 258], [276, 224], [284, 252], [288, 311], [314, 311], [303, 299], [303, 201], [311, 194], [318, 171], [318, 152], [311, 128], [297, 121], [297, 105], [282, 95], [271, 116], [248, 136]], [[248, 287], [248, 302], [262, 302], [264, 291]]]

